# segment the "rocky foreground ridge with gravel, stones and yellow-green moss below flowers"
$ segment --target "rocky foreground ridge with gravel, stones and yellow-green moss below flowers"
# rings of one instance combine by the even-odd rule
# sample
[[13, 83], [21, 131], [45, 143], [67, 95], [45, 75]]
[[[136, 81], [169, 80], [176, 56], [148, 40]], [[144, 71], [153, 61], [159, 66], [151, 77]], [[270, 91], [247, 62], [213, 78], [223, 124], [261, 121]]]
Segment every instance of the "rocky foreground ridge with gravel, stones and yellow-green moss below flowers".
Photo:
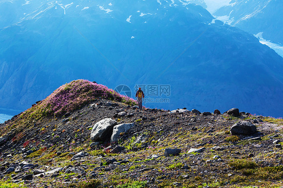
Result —
[[280, 119], [97, 98], [25, 127], [20, 120], [0, 125], [0, 183], [10, 187], [283, 186]]

